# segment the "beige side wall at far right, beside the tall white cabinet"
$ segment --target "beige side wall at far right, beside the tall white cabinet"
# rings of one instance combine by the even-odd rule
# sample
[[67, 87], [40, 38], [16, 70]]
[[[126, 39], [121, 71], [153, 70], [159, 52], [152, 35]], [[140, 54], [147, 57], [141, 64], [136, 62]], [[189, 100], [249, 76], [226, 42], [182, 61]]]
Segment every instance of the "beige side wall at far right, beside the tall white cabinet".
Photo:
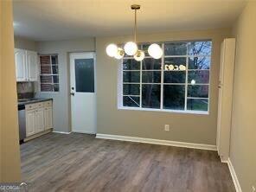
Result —
[[234, 26], [237, 38], [230, 159], [243, 191], [256, 187], [256, 3]]

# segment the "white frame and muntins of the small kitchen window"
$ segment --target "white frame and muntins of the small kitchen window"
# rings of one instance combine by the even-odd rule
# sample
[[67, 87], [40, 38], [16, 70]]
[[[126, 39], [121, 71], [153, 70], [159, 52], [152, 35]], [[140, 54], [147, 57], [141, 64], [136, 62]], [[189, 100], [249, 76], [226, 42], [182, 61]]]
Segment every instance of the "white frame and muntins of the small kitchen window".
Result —
[[[51, 67], [51, 74], [42, 74], [41, 72], [41, 56], [49, 56], [50, 57], [50, 63], [47, 65], [47, 66], [50, 66]], [[58, 57], [58, 63], [55, 63], [53, 64], [52, 63], [52, 56], [57, 56]], [[54, 94], [57, 94], [57, 93], [60, 93], [60, 61], [59, 61], [59, 54], [39, 54], [38, 55], [38, 62], [39, 62], [39, 91], [40, 93], [54, 93]], [[58, 67], [58, 74], [53, 74], [53, 66], [57, 66]], [[58, 76], [58, 79], [59, 79], [59, 82], [58, 83], [42, 83], [41, 81], [41, 77], [42, 76], [51, 76], [52, 78], [54, 76]], [[42, 88], [41, 88], [41, 85], [43, 84], [50, 84], [50, 85], [58, 85], [59, 86], [59, 91], [42, 91]]]

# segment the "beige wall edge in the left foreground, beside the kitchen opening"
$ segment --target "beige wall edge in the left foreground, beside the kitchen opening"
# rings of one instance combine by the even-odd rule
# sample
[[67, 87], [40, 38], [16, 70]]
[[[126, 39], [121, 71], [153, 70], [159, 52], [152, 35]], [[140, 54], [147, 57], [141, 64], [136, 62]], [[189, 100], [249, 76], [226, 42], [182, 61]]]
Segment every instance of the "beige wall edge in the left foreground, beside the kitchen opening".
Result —
[[0, 182], [21, 179], [11, 1], [0, 1]]

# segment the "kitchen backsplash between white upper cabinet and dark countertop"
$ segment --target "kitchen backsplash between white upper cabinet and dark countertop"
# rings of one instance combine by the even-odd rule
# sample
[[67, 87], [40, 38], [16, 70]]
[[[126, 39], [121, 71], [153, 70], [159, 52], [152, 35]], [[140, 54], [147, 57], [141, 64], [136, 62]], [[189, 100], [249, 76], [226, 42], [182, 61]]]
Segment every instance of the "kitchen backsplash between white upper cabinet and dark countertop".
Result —
[[35, 96], [34, 82], [17, 82], [18, 99], [33, 98]]

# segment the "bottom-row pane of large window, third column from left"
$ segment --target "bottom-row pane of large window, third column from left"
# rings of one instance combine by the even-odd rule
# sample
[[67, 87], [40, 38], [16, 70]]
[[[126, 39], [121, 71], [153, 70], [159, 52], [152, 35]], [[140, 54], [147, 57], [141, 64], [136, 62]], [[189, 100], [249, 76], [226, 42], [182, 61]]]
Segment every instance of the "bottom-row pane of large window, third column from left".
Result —
[[163, 86], [163, 108], [184, 110], [185, 86], [164, 85]]

